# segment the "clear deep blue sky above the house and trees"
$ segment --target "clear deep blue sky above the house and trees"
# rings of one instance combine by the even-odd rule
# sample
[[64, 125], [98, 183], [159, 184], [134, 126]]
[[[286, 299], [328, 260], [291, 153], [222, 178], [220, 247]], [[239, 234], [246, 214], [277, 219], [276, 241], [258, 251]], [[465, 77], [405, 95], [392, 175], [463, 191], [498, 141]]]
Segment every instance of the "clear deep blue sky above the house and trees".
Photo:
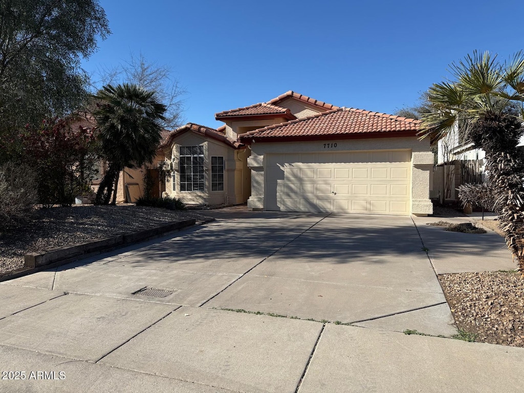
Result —
[[142, 53], [187, 90], [184, 119], [288, 90], [338, 106], [394, 113], [473, 50], [507, 59], [523, 45], [522, 0], [279, 2], [100, 0], [112, 35], [83, 68]]

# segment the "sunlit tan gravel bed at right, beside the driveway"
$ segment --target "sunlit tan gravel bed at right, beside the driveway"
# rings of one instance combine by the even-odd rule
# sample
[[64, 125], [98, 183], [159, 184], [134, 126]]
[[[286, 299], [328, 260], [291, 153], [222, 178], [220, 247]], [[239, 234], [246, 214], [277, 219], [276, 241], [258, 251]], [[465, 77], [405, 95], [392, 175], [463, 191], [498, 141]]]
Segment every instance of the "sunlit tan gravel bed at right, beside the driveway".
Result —
[[475, 341], [524, 347], [524, 281], [520, 272], [439, 275], [457, 327]]

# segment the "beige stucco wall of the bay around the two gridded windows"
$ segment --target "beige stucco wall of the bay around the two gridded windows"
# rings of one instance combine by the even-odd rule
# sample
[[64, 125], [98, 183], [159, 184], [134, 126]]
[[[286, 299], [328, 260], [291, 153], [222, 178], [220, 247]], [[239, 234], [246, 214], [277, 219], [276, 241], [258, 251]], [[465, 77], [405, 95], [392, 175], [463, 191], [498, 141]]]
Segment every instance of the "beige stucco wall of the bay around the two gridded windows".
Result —
[[[180, 191], [180, 147], [204, 146], [204, 190]], [[249, 194], [245, 193], [243, 180], [247, 170], [245, 149], [235, 150], [220, 141], [206, 138], [200, 134], [187, 132], [172, 141], [168, 156], [172, 162], [174, 176], [166, 182], [166, 193], [180, 198], [186, 204], [240, 204], [245, 203]], [[211, 191], [211, 157], [224, 157], [224, 191]], [[174, 178], [174, 184], [173, 184]]]

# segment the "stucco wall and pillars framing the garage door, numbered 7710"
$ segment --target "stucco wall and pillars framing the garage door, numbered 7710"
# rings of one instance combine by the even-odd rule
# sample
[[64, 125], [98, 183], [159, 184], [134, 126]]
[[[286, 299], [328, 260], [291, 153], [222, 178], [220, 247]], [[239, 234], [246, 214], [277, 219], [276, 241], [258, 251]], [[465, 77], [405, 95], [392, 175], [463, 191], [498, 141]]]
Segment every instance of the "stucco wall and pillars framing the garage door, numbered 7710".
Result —
[[336, 148], [327, 150], [324, 144], [328, 141], [253, 143], [250, 145], [251, 156], [247, 163], [251, 169], [251, 196], [247, 205], [251, 209], [265, 209], [265, 166], [264, 156], [271, 153], [306, 153], [324, 151], [358, 151], [358, 150], [395, 150], [410, 149], [412, 152], [411, 168], [411, 213], [428, 215], [433, 212], [429, 199], [430, 173], [433, 170], [433, 153], [429, 141], [420, 141], [416, 137], [406, 138], [369, 138], [330, 140]]

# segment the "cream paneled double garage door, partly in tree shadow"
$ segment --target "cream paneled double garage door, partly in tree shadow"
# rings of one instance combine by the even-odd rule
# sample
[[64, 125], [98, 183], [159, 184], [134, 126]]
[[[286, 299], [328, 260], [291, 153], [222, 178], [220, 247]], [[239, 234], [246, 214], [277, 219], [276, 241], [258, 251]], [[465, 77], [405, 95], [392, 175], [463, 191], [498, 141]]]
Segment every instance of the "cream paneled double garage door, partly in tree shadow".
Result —
[[266, 156], [266, 210], [410, 214], [411, 150]]

